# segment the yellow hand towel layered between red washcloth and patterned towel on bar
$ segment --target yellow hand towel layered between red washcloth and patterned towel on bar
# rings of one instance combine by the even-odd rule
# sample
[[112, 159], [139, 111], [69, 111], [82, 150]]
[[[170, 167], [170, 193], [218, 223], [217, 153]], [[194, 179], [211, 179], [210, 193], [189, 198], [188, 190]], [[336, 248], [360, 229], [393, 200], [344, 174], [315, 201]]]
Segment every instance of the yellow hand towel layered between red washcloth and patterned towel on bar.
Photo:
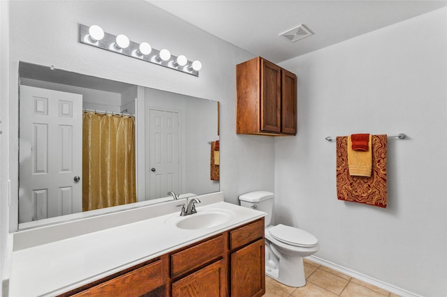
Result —
[[348, 137], [348, 166], [351, 176], [371, 176], [372, 170], [372, 135], [369, 135], [367, 151], [353, 151], [351, 135]]

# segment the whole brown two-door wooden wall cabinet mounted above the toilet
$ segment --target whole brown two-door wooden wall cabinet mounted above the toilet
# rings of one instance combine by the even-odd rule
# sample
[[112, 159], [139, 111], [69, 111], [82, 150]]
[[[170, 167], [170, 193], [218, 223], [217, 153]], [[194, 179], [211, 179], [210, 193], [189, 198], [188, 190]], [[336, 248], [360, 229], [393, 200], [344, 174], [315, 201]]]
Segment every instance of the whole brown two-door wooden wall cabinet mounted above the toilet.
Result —
[[261, 57], [236, 66], [237, 134], [295, 135], [297, 79]]

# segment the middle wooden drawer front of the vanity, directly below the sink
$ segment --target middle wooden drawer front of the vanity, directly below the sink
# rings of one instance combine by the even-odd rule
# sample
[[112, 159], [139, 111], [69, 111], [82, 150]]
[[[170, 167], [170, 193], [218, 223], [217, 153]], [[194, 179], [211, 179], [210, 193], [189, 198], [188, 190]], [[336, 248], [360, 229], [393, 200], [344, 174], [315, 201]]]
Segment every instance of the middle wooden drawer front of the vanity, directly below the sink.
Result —
[[193, 245], [170, 256], [171, 277], [177, 277], [203, 266], [225, 254], [226, 236], [223, 234]]

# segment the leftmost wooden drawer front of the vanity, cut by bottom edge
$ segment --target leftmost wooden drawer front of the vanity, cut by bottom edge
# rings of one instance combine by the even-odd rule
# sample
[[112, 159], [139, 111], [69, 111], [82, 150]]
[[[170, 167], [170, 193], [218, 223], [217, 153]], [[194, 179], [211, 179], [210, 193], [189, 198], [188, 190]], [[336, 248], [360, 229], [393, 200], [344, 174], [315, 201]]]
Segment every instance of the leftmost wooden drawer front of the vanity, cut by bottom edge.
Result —
[[71, 296], [141, 296], [166, 283], [163, 260], [147, 264]]

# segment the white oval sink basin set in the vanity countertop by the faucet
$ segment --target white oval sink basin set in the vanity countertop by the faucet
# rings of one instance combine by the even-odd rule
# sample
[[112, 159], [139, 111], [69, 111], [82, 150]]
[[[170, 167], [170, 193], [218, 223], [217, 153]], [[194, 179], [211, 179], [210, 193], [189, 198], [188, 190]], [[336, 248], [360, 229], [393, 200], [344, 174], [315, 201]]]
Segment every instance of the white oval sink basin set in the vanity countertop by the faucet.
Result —
[[172, 224], [179, 229], [207, 229], [225, 224], [235, 217], [233, 211], [212, 208], [197, 211], [192, 215], [175, 215], [166, 220], [166, 224]]

